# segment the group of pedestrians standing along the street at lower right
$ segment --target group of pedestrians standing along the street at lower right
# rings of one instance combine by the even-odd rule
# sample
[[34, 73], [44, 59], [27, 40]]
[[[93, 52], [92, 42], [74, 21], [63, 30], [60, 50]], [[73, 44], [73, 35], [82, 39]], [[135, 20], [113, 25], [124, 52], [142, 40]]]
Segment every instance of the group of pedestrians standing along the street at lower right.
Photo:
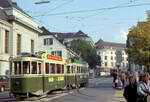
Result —
[[[139, 81], [137, 81], [137, 77], [133, 74], [126, 74], [125, 72], [121, 72], [118, 74], [114, 73], [114, 84], [117, 87], [116, 80], [118, 76], [122, 82], [122, 88], [124, 88], [123, 96], [127, 100], [127, 102], [150, 102], [150, 81], [148, 73], [141, 73], [139, 75]], [[125, 85], [125, 82], [128, 82]]]

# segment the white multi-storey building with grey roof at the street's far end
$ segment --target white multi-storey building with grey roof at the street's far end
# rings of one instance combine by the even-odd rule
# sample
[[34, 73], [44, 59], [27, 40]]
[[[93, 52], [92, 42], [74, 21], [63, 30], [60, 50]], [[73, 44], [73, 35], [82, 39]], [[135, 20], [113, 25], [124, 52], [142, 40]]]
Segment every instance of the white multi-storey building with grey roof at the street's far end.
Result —
[[126, 44], [104, 42], [99, 40], [96, 44], [97, 54], [101, 57], [100, 70], [107, 70], [114, 68], [127, 68], [128, 56], [125, 52]]

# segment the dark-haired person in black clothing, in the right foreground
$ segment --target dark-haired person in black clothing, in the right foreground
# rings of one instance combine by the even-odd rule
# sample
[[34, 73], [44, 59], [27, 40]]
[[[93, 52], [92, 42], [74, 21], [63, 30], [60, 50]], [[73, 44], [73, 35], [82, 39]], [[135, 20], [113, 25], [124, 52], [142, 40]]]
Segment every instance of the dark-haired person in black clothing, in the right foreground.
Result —
[[129, 84], [125, 87], [123, 96], [127, 102], [137, 101], [137, 83], [134, 76], [129, 76]]

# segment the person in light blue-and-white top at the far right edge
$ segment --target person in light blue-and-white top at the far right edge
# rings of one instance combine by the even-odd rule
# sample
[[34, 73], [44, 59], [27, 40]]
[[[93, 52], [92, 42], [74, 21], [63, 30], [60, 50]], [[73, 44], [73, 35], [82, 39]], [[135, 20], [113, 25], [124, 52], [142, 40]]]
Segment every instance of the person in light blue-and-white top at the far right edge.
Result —
[[146, 73], [140, 75], [140, 82], [137, 84], [137, 102], [147, 102], [147, 97], [150, 95], [149, 76]]

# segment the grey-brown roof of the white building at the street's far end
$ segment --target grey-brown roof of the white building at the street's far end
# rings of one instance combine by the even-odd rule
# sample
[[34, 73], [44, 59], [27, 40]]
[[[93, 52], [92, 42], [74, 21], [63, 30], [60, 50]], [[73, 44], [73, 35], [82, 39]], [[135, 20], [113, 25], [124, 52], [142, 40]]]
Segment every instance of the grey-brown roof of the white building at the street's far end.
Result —
[[100, 39], [95, 44], [96, 44], [97, 49], [101, 49], [104, 46], [117, 47], [117, 48], [126, 48], [126, 44], [115, 43], [115, 42], [104, 42], [102, 39]]

